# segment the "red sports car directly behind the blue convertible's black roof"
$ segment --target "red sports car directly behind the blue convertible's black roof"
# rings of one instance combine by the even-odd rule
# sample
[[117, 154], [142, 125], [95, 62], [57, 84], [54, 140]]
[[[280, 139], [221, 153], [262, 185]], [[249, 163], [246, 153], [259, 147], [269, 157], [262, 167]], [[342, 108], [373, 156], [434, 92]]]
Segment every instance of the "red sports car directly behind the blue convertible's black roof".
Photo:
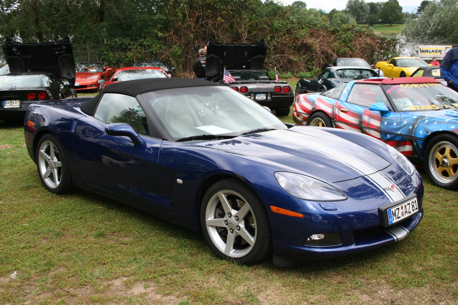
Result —
[[114, 71], [108, 82], [100, 85], [102, 90], [106, 85], [114, 84], [115, 82], [132, 81], [134, 79], [143, 78], [167, 78], [170, 77], [162, 68], [156, 67], [126, 67]]

